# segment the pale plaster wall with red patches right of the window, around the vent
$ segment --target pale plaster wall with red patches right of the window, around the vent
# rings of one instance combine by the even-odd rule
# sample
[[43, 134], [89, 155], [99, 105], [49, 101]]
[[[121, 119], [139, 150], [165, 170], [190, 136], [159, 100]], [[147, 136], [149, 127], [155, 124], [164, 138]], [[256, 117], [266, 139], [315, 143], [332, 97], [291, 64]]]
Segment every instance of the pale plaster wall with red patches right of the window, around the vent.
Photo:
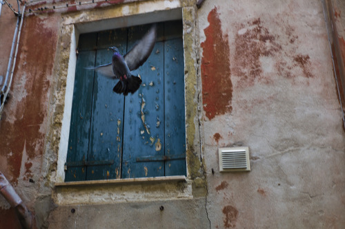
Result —
[[[342, 228], [345, 132], [322, 2], [206, 1], [198, 15], [212, 228]], [[249, 173], [218, 172], [218, 147], [233, 145], [249, 146]]]

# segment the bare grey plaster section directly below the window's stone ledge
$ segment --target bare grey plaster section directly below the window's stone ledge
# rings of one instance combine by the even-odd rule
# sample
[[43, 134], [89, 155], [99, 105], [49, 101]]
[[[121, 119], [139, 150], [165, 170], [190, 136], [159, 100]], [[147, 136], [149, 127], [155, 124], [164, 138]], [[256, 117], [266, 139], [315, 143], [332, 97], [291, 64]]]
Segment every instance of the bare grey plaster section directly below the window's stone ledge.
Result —
[[204, 199], [62, 206], [50, 228], [208, 228], [205, 215]]

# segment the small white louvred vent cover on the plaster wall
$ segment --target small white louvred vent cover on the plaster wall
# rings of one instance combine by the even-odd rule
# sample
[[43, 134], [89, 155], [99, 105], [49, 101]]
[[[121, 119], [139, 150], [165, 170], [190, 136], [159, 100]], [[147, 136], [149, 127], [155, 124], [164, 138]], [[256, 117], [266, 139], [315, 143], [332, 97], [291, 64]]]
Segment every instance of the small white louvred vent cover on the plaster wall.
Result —
[[219, 148], [219, 171], [250, 171], [248, 147]]

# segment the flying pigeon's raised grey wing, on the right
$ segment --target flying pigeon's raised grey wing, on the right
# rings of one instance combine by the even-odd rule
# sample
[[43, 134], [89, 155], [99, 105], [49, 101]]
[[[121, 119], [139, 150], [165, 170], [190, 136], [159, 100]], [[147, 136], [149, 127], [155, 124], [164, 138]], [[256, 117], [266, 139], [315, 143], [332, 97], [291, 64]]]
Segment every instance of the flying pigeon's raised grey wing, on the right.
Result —
[[155, 46], [157, 25], [152, 25], [147, 34], [125, 56], [130, 71], [137, 69], [145, 63]]

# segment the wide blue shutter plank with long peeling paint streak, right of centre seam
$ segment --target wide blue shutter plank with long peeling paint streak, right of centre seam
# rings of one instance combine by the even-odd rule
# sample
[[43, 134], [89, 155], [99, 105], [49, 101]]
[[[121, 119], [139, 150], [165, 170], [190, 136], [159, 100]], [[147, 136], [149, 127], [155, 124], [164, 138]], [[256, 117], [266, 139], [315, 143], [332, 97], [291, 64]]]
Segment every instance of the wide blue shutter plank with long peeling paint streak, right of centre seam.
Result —
[[[130, 28], [128, 47], [146, 32], [141, 27]], [[163, 162], [135, 160], [139, 156], [164, 155], [164, 125], [160, 124], [164, 120], [163, 43], [156, 43], [153, 50], [148, 61], [132, 72], [141, 76], [141, 87], [126, 96], [122, 178], [164, 175]]]

